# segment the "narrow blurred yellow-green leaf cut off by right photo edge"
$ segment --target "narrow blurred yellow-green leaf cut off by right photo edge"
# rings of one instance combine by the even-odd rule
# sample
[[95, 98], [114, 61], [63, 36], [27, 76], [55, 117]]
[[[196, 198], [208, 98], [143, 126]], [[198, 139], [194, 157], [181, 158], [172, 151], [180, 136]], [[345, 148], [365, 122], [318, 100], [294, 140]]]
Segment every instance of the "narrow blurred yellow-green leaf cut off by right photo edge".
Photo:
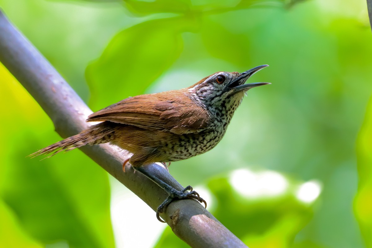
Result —
[[357, 140], [358, 192], [354, 212], [366, 247], [372, 247], [372, 99]]

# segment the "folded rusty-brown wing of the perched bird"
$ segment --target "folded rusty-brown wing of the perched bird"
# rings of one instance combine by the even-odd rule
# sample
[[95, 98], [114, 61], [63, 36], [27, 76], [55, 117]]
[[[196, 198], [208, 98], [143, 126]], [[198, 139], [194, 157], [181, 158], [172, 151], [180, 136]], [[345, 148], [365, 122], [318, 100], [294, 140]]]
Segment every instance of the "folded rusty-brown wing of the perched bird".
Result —
[[[192, 106], [192, 107], [190, 107]], [[129, 97], [88, 116], [87, 121], [110, 121], [177, 134], [200, 132], [208, 113], [183, 90]]]

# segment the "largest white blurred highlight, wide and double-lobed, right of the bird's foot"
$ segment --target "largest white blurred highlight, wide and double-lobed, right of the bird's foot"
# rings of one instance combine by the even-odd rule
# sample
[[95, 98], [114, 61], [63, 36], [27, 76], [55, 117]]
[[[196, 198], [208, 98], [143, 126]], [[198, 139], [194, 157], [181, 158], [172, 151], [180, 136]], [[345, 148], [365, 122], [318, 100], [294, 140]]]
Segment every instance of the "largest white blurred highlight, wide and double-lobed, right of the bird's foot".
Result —
[[277, 196], [288, 188], [286, 178], [275, 171], [253, 172], [247, 169], [235, 170], [230, 175], [232, 187], [245, 197]]

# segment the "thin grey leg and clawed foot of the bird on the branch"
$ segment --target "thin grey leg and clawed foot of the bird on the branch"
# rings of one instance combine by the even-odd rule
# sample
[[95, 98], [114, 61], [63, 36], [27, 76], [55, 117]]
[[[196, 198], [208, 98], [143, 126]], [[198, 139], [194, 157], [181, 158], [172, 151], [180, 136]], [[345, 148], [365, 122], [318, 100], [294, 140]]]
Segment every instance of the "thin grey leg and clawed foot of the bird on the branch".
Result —
[[198, 202], [203, 202], [205, 204], [205, 207], [207, 207], [207, 203], [205, 202], [205, 200], [201, 198], [196, 191], [192, 190], [191, 186], [187, 186], [182, 191], [178, 191], [174, 189], [173, 187], [171, 187], [169, 184], [165, 183], [160, 178], [158, 178], [153, 173], [145, 170], [143, 167], [135, 167], [134, 169], [137, 171], [140, 171], [140, 173], [144, 174], [146, 177], [151, 179], [151, 181], [156, 183], [159, 187], [161, 187], [168, 193], [167, 199], [165, 199], [164, 202], [161, 203], [160, 206], [158, 206], [157, 211], [156, 211], [156, 217], [160, 222], [165, 222], [165, 221], [160, 218], [159, 214], [163, 213], [164, 207], [166, 207], [169, 203], [171, 203], [174, 199], [177, 199], [177, 198], [178, 199], [192, 198], [192, 199], [197, 200]]

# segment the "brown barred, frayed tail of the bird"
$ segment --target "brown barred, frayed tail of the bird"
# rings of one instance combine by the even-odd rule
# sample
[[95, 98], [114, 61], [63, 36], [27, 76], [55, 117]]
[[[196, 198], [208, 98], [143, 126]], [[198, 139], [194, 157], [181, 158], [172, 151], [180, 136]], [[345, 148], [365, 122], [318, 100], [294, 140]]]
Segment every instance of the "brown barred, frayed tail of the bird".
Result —
[[49, 154], [49, 156], [47, 157], [49, 158], [57, 154], [58, 152], [68, 152], [83, 145], [96, 145], [106, 143], [112, 140], [113, 133], [115, 133], [115, 128], [107, 125], [106, 122], [102, 122], [97, 125], [90, 126], [77, 135], [68, 137], [64, 140], [40, 149], [39, 151], [36, 151], [33, 154], [28, 155], [27, 157], [34, 158], [39, 155]]

